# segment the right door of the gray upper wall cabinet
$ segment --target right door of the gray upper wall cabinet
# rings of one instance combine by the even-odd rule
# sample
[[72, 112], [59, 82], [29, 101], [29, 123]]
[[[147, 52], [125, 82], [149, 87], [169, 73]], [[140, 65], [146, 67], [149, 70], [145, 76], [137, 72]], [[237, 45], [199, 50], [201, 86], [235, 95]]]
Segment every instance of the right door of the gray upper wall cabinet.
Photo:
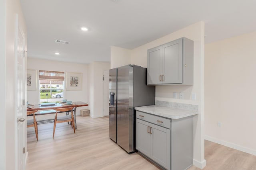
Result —
[[162, 45], [162, 53], [162, 83], [182, 83], [182, 38]]

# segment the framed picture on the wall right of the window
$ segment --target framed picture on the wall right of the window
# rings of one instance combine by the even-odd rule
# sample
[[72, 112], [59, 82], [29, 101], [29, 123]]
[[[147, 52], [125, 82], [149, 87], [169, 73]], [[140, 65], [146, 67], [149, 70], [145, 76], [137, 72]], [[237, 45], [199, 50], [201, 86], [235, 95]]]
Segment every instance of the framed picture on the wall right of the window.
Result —
[[66, 90], [82, 90], [82, 73], [66, 73]]

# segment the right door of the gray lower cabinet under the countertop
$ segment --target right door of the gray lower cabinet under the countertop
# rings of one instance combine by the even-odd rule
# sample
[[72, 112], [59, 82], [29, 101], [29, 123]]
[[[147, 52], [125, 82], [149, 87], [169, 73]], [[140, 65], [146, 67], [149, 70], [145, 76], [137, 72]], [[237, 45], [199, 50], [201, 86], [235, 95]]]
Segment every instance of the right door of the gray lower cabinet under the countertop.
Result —
[[170, 170], [170, 129], [150, 124], [150, 158]]

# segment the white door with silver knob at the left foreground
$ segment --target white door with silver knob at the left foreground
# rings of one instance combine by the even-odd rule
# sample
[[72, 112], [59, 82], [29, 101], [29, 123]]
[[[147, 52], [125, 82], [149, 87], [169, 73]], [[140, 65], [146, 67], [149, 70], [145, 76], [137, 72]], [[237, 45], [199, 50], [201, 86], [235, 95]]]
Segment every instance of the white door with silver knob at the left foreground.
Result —
[[[17, 137], [16, 137], [16, 167], [25, 170], [25, 145], [26, 145], [26, 107], [25, 107], [25, 37], [18, 26], [18, 15], [16, 15], [16, 46], [15, 46], [15, 84], [16, 84], [16, 115], [17, 115]], [[23, 149], [24, 148], [24, 149]]]

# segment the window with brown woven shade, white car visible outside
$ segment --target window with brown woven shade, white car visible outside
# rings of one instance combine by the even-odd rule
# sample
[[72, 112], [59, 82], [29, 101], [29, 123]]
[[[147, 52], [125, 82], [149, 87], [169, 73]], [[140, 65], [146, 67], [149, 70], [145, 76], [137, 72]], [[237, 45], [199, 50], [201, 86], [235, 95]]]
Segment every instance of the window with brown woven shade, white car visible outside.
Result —
[[40, 103], [61, 102], [64, 89], [64, 72], [39, 70]]

